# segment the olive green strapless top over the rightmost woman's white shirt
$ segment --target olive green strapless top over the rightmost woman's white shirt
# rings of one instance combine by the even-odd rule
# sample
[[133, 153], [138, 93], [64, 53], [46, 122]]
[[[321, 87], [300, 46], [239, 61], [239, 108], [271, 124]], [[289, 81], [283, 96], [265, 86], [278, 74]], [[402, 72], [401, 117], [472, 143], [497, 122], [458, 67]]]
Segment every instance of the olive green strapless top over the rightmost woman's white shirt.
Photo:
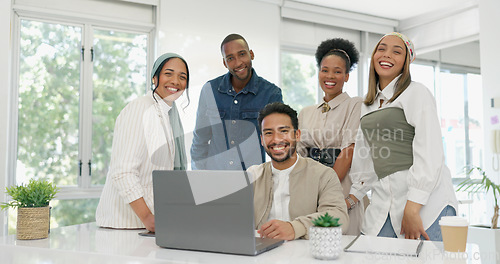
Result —
[[361, 118], [361, 129], [379, 179], [407, 170], [413, 164], [415, 128], [408, 124], [403, 109], [388, 107]]

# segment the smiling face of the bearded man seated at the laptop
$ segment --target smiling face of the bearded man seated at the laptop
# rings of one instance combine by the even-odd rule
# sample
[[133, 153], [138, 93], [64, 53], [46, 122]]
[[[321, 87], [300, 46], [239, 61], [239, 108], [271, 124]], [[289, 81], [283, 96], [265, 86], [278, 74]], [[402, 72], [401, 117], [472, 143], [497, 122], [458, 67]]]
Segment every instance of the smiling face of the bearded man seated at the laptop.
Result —
[[297, 160], [297, 141], [300, 130], [295, 130], [286, 114], [273, 113], [262, 120], [262, 146], [276, 169], [283, 170]]

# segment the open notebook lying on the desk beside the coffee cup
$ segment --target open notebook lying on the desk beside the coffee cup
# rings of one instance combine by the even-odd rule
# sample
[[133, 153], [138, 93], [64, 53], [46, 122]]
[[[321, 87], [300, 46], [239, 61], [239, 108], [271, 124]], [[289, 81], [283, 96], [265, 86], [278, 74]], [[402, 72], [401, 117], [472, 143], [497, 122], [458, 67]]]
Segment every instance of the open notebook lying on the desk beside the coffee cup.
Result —
[[344, 251], [418, 257], [423, 242], [423, 240], [358, 235], [344, 248]]

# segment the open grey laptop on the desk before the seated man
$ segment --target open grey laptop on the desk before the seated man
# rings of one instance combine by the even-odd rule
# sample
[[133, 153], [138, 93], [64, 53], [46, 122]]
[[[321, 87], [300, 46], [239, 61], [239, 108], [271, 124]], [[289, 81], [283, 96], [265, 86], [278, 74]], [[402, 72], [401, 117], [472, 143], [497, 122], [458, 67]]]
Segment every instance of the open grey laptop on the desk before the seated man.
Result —
[[255, 256], [283, 243], [255, 237], [245, 171], [153, 171], [160, 247]]

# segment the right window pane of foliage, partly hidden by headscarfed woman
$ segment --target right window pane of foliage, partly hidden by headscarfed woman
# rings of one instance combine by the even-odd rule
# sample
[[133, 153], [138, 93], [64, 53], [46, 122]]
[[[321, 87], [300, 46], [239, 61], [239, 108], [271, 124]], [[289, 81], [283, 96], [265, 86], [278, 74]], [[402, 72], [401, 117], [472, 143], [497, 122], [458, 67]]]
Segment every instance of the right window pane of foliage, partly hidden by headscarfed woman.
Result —
[[[94, 34], [91, 184], [103, 185], [108, 172], [116, 117], [144, 94], [147, 35], [96, 29]], [[101, 51], [101, 52], [98, 52]], [[149, 83], [149, 82], [148, 82]]]

